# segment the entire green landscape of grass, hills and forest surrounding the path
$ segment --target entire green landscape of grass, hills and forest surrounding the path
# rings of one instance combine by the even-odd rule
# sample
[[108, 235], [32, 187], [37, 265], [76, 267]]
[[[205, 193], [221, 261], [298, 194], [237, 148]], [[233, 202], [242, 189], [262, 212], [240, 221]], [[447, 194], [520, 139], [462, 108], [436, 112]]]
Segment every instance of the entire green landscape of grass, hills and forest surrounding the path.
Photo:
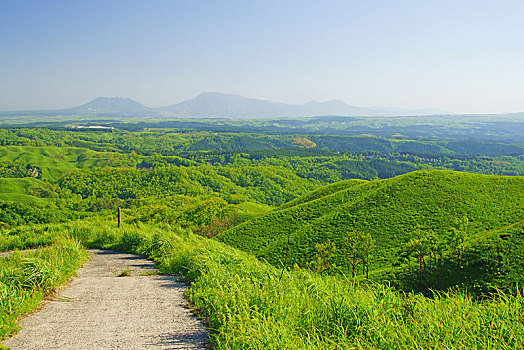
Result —
[[2, 260], [4, 335], [77, 239], [184, 274], [217, 349], [519, 348], [521, 124], [93, 122], [0, 129], [0, 250], [37, 249]]

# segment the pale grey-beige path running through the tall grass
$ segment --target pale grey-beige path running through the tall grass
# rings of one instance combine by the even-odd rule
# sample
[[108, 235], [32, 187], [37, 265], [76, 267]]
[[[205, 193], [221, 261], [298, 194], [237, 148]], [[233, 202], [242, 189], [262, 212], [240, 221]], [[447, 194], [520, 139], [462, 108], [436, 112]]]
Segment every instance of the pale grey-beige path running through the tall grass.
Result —
[[[186, 288], [151, 275], [152, 262], [90, 250], [92, 259], [42, 310], [3, 342], [11, 349], [205, 349], [202, 323], [184, 308]], [[130, 277], [117, 277], [129, 270]]]

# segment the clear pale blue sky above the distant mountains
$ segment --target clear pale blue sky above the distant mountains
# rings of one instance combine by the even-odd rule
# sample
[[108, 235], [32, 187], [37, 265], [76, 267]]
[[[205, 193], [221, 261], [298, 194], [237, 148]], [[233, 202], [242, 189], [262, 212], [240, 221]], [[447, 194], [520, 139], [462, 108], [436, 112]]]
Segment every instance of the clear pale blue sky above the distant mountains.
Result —
[[524, 2], [0, 1], [0, 110], [204, 91], [524, 111]]

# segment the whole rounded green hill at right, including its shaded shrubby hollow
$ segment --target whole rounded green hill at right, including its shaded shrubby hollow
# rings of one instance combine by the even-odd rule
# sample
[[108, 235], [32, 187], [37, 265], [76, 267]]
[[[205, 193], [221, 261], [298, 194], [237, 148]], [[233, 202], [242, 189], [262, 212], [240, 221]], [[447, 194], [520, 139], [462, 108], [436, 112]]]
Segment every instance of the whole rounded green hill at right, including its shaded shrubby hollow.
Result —
[[[339, 191], [334, 192], [336, 189]], [[320, 196], [323, 193], [326, 195]], [[374, 280], [408, 290], [462, 285], [485, 293], [493, 288], [511, 289], [514, 278], [505, 280], [499, 270], [513, 270], [508, 265], [513, 259], [519, 262], [511, 266], [524, 261], [519, 259], [524, 250], [517, 241], [507, 244], [502, 234], [486, 236], [488, 231], [502, 230], [522, 220], [522, 193], [522, 177], [450, 171], [419, 171], [374, 182], [350, 181], [319, 189], [238, 225], [218, 239], [275, 266], [285, 263], [302, 267], [316, 259], [316, 244], [331, 241], [337, 247], [331, 263], [340, 272], [350, 273], [355, 266], [345, 253], [347, 240], [363, 232], [376, 242], [370, 263]], [[485, 244], [487, 238], [473, 245], [484, 236], [494, 240], [488, 244], [493, 249], [484, 249], [480, 258], [472, 247]], [[503, 261], [499, 262], [500, 257]], [[368, 266], [359, 265], [363, 274]], [[489, 271], [495, 267], [499, 272]]]

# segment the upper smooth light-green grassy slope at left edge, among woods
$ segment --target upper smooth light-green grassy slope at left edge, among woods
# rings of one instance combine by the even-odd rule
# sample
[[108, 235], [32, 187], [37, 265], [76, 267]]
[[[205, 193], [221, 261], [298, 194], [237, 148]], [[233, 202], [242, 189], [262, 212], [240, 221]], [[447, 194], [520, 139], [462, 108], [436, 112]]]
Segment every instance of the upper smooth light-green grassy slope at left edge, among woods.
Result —
[[63, 174], [94, 166], [129, 165], [129, 157], [111, 152], [95, 152], [74, 147], [0, 147], [0, 159], [22, 161], [40, 168], [41, 178], [56, 181]]

